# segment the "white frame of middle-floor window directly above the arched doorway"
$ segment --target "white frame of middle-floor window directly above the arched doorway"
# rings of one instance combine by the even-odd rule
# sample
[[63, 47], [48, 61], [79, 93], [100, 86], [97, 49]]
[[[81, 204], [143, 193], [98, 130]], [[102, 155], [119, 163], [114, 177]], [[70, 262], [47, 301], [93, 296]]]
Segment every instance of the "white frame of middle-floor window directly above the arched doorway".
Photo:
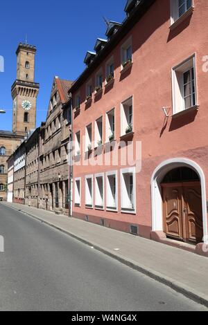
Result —
[[[196, 80], [196, 54], [194, 53], [187, 59], [184, 59], [180, 64], [172, 68], [172, 97], [173, 97], [173, 115], [191, 109], [191, 107], [185, 109], [184, 106], [184, 83], [183, 75], [186, 71], [193, 68], [194, 82], [195, 82], [195, 104], [191, 107], [198, 106], [198, 91]], [[191, 99], [192, 100], [192, 99]]]

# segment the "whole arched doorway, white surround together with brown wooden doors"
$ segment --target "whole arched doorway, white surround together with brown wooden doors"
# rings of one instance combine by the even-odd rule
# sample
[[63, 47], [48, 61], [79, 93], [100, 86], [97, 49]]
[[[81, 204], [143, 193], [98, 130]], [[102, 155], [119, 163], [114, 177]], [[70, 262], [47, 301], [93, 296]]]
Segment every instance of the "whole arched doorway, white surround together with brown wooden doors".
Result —
[[207, 243], [205, 175], [196, 163], [173, 158], [151, 180], [152, 230], [188, 243]]

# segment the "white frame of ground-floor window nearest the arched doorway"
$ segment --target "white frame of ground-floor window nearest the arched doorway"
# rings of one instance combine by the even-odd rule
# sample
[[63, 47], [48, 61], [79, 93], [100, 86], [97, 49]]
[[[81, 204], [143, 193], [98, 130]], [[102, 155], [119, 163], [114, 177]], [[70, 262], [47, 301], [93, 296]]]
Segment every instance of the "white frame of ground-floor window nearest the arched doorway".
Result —
[[[125, 174], [132, 174], [133, 178], [133, 208], [130, 208], [130, 206], [125, 207], [125, 198], [127, 197], [126, 191], [123, 188], [125, 186], [125, 180], [123, 175]], [[136, 214], [137, 213], [137, 198], [136, 198], [136, 168], [135, 167], [130, 167], [130, 168], [125, 168], [121, 169], [121, 174], [120, 174], [120, 180], [121, 180], [121, 212], [126, 213], [126, 214]]]

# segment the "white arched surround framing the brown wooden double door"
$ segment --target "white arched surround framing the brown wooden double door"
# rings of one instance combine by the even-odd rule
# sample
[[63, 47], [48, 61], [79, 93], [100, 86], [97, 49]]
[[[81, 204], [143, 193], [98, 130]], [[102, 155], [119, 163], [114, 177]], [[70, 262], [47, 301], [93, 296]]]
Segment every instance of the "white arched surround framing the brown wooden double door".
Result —
[[193, 160], [187, 158], [172, 158], [161, 163], [151, 178], [151, 205], [152, 205], [152, 231], [163, 232], [163, 209], [162, 209], [162, 187], [161, 183], [164, 176], [177, 167], [189, 167], [196, 171], [200, 178], [202, 190], [202, 221], [203, 221], [203, 242], [208, 243], [207, 231], [207, 196], [205, 174], [201, 167]]

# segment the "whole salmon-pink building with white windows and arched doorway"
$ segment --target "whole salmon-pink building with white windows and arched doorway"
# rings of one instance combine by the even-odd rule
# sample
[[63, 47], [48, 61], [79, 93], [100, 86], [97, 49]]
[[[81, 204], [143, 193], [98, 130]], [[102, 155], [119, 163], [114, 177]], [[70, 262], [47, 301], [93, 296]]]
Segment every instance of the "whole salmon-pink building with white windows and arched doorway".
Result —
[[72, 214], [203, 254], [208, 3], [128, 1], [125, 11], [71, 88]]

